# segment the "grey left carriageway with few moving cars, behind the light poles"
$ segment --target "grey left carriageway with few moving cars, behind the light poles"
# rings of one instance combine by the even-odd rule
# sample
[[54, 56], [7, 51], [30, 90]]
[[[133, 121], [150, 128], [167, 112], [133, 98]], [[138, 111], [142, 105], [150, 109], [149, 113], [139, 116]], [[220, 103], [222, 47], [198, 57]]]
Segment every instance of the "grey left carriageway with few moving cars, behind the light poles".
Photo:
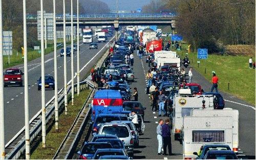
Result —
[[[80, 69], [91, 60], [80, 72], [80, 80], [90, 71], [98, 59], [105, 52], [109, 43], [109, 37], [106, 43], [98, 43], [98, 49], [89, 50], [89, 44], [80, 43]], [[96, 38], [94, 38], [96, 41]], [[74, 42], [74, 44], [76, 44]], [[97, 54], [98, 53], [98, 54]], [[97, 54], [97, 56], [95, 56]], [[60, 50], [57, 50], [57, 66], [58, 66], [58, 90], [64, 86], [63, 76], [63, 57], [60, 57]], [[95, 57], [94, 57], [95, 56]], [[92, 59], [94, 57], [94, 59]], [[29, 77], [29, 118], [31, 119], [41, 109], [41, 91], [37, 90], [37, 80], [41, 76], [41, 59], [37, 58], [28, 63]], [[77, 52], [74, 52], [74, 73], [76, 73]], [[23, 70], [23, 65], [18, 65]], [[71, 57], [67, 57], [67, 81], [71, 80]], [[45, 74], [54, 76], [54, 53], [45, 56]], [[76, 82], [76, 78], [74, 80]], [[55, 88], [56, 89], [56, 88]], [[54, 96], [54, 90], [46, 89], [46, 103]], [[5, 104], [5, 143], [24, 127], [25, 111], [24, 111], [24, 86], [8, 86], [4, 88], [4, 104]]]

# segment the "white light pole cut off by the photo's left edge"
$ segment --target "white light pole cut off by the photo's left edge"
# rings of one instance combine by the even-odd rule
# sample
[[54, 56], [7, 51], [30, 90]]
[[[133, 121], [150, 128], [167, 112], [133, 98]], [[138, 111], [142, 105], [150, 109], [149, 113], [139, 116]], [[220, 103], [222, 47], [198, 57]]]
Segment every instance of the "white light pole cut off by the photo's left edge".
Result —
[[2, 0], [0, 0], [0, 159], [5, 159], [5, 113], [4, 113], [4, 66], [3, 66], [3, 22]]

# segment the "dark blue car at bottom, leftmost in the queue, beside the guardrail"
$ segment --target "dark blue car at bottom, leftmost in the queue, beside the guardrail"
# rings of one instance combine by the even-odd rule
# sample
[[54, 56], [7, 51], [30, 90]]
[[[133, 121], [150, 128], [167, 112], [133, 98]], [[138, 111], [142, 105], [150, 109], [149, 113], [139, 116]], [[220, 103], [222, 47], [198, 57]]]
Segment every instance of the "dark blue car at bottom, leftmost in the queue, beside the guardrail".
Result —
[[113, 148], [108, 142], [86, 142], [82, 149], [77, 152], [77, 159], [92, 159], [98, 149]]

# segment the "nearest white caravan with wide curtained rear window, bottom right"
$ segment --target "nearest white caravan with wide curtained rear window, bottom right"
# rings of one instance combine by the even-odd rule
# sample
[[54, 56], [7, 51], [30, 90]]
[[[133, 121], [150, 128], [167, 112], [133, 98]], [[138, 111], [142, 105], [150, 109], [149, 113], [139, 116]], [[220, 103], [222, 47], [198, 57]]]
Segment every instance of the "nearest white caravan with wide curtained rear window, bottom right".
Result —
[[200, 147], [205, 144], [226, 144], [232, 147], [232, 117], [183, 118], [182, 148], [183, 159], [195, 159]]

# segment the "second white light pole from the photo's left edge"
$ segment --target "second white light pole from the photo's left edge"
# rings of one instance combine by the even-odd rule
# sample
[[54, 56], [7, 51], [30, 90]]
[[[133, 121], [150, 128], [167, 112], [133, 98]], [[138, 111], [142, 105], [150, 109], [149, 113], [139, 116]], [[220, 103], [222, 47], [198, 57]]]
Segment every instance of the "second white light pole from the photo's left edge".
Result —
[[25, 106], [25, 139], [26, 159], [30, 159], [30, 134], [29, 134], [29, 85], [28, 85], [28, 52], [27, 52], [27, 19], [26, 0], [23, 0], [23, 39], [24, 39], [24, 106]]

